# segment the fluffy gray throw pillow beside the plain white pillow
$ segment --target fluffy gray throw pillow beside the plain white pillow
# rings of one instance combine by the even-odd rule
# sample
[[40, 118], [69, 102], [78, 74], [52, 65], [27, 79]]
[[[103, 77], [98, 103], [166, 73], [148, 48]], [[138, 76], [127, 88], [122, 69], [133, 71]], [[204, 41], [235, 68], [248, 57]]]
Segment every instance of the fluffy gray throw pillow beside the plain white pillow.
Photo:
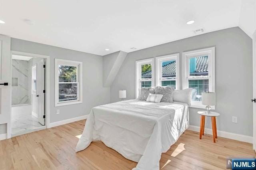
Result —
[[155, 88], [155, 94], [163, 95], [161, 102], [173, 102], [174, 90], [166, 87], [157, 86]]

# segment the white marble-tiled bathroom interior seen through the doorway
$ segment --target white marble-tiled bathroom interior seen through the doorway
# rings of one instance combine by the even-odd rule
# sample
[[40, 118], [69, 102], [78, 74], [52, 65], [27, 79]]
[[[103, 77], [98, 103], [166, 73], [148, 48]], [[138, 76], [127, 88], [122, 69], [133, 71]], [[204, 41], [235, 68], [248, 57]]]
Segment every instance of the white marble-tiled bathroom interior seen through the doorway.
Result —
[[[38, 69], [44, 59], [12, 55], [12, 136], [41, 130], [44, 122], [40, 115], [44, 110], [44, 98], [38, 95], [38, 85], [44, 85], [45, 76], [39, 76]], [[44, 87], [41, 87], [44, 89]], [[42, 96], [44, 97], [44, 96]], [[40, 113], [41, 112], [41, 113]]]

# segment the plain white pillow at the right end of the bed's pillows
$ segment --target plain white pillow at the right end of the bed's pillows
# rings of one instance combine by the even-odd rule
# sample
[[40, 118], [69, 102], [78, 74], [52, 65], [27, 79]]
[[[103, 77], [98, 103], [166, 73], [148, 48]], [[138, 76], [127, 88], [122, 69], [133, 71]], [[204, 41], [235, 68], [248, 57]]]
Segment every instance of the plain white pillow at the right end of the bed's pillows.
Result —
[[173, 101], [187, 103], [188, 106], [191, 106], [191, 93], [192, 88], [184, 90], [175, 90], [173, 94]]

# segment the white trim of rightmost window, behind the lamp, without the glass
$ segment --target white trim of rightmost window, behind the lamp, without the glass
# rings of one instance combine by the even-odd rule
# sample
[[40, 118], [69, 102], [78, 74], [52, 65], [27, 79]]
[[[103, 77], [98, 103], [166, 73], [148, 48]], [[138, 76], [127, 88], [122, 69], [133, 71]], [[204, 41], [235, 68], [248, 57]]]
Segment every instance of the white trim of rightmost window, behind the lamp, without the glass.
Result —
[[[208, 79], [209, 80], [209, 91], [215, 92], [215, 47], [209, 47], [204, 49], [198, 49], [193, 51], [187, 51], [182, 53], [182, 89], [188, 88], [189, 78], [189, 58], [198, 57], [202, 55], [208, 55], [208, 78], [198, 77], [194, 79]], [[200, 101], [192, 101], [191, 107], [205, 109], [206, 106], [202, 105]], [[212, 106], [215, 110], [215, 106]]]

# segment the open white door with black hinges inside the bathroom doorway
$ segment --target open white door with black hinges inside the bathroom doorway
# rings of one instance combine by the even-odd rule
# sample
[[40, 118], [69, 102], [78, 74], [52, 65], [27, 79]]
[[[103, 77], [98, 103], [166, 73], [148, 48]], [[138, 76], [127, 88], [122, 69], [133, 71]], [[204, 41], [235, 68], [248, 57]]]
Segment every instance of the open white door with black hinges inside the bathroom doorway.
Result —
[[44, 86], [45, 86], [45, 68], [44, 68], [44, 59], [41, 59], [37, 63], [37, 91], [36, 96], [38, 97], [38, 122], [42, 125], [45, 125], [45, 103], [44, 103]]

